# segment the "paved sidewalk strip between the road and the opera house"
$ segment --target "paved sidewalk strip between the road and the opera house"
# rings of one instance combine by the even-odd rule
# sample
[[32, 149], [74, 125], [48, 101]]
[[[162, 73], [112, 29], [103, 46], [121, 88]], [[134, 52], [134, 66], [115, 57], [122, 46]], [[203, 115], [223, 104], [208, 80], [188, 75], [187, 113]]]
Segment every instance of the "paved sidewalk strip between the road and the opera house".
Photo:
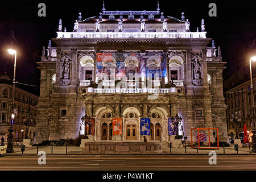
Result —
[[[25, 151], [22, 152], [20, 151], [20, 146], [14, 146], [14, 153], [11, 154], [2, 154], [2, 155], [37, 155], [36, 154], [37, 148], [36, 147], [26, 147]], [[53, 146], [53, 151], [52, 147], [38, 147], [38, 152], [39, 151], [44, 151], [46, 152], [47, 155], [65, 155], [66, 154], [66, 147], [56, 147]], [[81, 147], [68, 147], [67, 154], [69, 155], [79, 155], [81, 154], [82, 148]], [[237, 154], [237, 151], [234, 150], [234, 147], [225, 147], [225, 154], [224, 154], [224, 147], [220, 147], [218, 150], [197, 150], [191, 147], [187, 147], [187, 153], [185, 153], [185, 148], [171, 148], [171, 153], [170, 153], [170, 147], [163, 147], [163, 153], [155, 153], [155, 154], [179, 154], [179, 155], [189, 155], [189, 154], [199, 154], [199, 155], [208, 155], [210, 151], [216, 151], [217, 154]], [[238, 148], [238, 154], [242, 155], [256, 155], [256, 153], [251, 153], [249, 152], [249, 147], [240, 147]], [[86, 154], [87, 155], [87, 154]], [[95, 155], [95, 154], [93, 154]], [[102, 154], [101, 154], [102, 155]], [[153, 154], [154, 155], [154, 154]]]

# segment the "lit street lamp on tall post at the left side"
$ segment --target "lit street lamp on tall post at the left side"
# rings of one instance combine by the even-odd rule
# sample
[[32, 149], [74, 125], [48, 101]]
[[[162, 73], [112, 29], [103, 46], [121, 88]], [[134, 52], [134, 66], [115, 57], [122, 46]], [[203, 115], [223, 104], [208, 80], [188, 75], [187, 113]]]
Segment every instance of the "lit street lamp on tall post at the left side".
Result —
[[[14, 114], [14, 95], [15, 95], [15, 74], [16, 74], [16, 57], [17, 57], [17, 52], [14, 49], [8, 49], [7, 50], [11, 55], [14, 55], [14, 73], [13, 73], [13, 99], [11, 103], [11, 111], [12, 114]], [[10, 129], [8, 129], [9, 134], [8, 134], [8, 144], [7, 144], [7, 149], [6, 153], [13, 153], [13, 126], [11, 125], [10, 122]]]

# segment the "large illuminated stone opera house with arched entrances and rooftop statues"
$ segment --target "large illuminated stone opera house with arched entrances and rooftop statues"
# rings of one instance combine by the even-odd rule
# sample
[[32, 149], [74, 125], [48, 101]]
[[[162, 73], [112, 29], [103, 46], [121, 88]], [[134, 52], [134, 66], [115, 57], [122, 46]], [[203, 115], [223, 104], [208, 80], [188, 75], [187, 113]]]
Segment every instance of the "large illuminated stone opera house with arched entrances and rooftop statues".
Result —
[[71, 31], [60, 20], [56, 46], [50, 40], [38, 62], [37, 142], [84, 134], [85, 114], [94, 141], [143, 141], [146, 135], [167, 142], [176, 115], [183, 126], [179, 134], [188, 140], [192, 128], [217, 127], [226, 141], [225, 62], [214, 42], [207, 47], [212, 39], [200, 22], [200, 31], [192, 31], [184, 13], [181, 19], [164, 16], [159, 7], [104, 7], [86, 19], [80, 13]]

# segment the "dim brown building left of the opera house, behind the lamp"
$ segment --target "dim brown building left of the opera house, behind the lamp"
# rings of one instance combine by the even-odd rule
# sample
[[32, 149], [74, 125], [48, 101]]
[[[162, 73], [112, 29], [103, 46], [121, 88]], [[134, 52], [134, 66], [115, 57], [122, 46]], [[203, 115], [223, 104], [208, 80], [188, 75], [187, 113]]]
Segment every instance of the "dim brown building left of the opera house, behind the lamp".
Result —
[[[5, 73], [0, 77], [0, 138], [7, 141], [13, 99], [13, 84], [11, 78]], [[27, 137], [34, 139], [36, 128], [36, 104], [38, 96], [15, 86], [14, 108], [18, 110], [18, 115], [14, 118], [14, 142], [22, 142]]]

